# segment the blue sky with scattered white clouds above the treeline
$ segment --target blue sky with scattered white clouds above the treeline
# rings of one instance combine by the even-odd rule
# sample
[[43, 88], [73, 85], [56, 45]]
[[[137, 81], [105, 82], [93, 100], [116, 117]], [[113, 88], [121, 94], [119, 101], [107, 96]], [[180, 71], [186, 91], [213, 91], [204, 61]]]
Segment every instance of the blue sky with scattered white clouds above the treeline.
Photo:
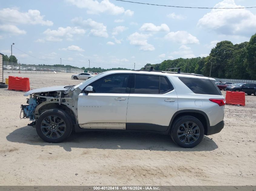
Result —
[[[136, 0], [191, 7], [251, 7], [255, 0]], [[207, 56], [221, 40], [256, 32], [256, 8], [188, 9], [115, 0], [2, 1], [0, 53], [26, 64], [141, 68], [167, 59]], [[17, 49], [16, 49], [17, 48]], [[19, 50], [23, 51], [19, 51]], [[29, 56], [32, 55], [32, 56]], [[39, 59], [37, 59], [39, 58]], [[43, 59], [43, 60], [40, 60]]]

